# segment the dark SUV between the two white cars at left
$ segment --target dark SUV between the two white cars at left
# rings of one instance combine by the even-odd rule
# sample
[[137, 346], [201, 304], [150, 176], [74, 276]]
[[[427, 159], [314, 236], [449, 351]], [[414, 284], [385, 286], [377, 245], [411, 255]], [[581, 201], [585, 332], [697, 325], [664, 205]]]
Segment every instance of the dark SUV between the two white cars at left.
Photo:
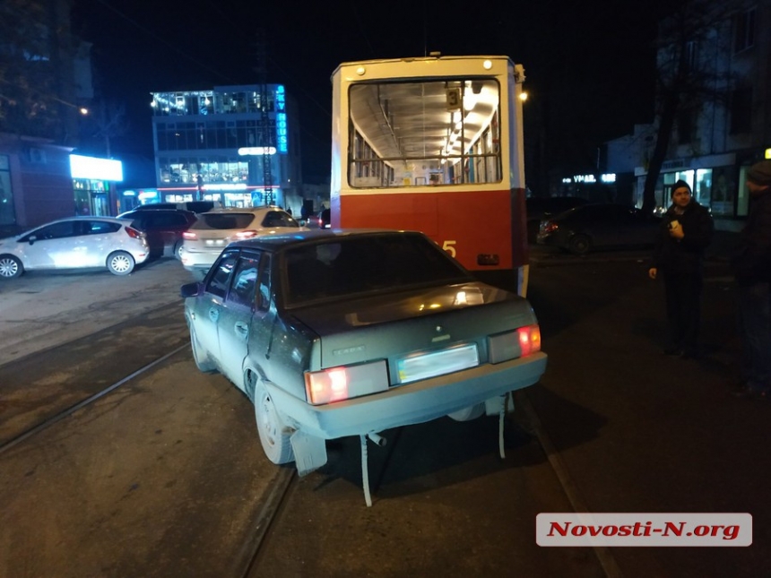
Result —
[[144, 231], [153, 257], [179, 257], [182, 233], [195, 223], [195, 212], [182, 209], [134, 209], [119, 214], [118, 218], [131, 219], [134, 229]]

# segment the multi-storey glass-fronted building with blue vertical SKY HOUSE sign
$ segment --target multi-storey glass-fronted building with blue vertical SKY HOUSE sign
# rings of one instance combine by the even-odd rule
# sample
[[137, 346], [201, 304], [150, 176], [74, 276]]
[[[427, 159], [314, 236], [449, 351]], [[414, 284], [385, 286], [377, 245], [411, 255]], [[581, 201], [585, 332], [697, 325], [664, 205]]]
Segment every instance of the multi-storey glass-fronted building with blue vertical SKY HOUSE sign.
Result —
[[289, 208], [301, 190], [297, 125], [281, 84], [152, 92], [152, 200]]

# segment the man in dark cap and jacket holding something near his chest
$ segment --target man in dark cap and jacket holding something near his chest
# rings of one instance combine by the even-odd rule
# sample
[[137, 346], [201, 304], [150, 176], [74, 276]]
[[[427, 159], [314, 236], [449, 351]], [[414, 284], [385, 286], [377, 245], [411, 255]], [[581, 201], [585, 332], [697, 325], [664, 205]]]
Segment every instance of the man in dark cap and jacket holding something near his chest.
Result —
[[685, 181], [672, 186], [671, 202], [662, 218], [654, 248], [654, 266], [648, 275], [657, 279], [661, 272], [663, 276], [669, 326], [664, 353], [698, 358], [704, 252], [712, 241], [715, 225], [709, 211], [691, 196], [690, 185]]

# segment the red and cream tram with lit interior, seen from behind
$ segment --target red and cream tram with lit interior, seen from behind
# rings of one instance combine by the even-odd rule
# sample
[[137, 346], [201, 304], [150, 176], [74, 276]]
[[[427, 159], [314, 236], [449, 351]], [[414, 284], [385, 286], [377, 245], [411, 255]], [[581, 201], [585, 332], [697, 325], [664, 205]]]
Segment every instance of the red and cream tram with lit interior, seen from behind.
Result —
[[523, 82], [508, 56], [339, 65], [332, 226], [423, 231], [481, 278], [513, 274], [524, 296]]

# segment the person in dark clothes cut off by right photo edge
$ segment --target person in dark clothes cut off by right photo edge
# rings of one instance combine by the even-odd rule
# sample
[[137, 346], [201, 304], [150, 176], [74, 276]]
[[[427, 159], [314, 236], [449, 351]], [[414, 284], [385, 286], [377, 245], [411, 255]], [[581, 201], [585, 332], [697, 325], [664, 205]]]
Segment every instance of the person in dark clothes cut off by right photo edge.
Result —
[[747, 171], [749, 216], [731, 265], [739, 289], [742, 341], [738, 396], [771, 395], [771, 160]]

